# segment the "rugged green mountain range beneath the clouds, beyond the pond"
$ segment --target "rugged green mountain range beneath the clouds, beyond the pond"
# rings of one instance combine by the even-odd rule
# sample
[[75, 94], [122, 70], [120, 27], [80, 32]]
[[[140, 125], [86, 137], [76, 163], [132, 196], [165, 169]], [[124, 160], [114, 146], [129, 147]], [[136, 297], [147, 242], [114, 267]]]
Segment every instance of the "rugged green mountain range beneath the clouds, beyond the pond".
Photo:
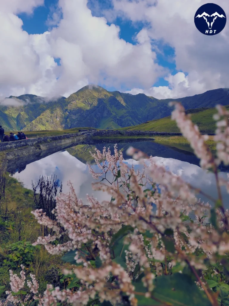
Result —
[[[87, 85], [68, 98], [36, 95], [10, 96], [15, 106], [0, 103], [0, 124], [5, 131], [62, 130], [91, 126], [118, 129], [140, 125], [171, 114], [170, 101], [186, 110], [229, 104], [229, 89], [219, 88], [179, 99], [156, 99], [144, 94], [131, 95]], [[5, 101], [7, 101], [7, 99]], [[7, 102], [5, 102], [6, 104]]]

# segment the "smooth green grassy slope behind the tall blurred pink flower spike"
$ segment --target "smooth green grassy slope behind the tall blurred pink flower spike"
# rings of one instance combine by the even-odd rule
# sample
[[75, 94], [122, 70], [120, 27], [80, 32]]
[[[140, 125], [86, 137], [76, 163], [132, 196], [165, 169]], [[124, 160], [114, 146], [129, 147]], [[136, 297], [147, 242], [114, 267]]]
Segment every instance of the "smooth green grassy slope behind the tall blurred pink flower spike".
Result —
[[[229, 105], [226, 106], [229, 109]], [[194, 113], [194, 111], [198, 111]], [[214, 107], [209, 109], [191, 109], [187, 113], [191, 114], [192, 121], [198, 125], [201, 132], [214, 133], [216, 130], [215, 121], [213, 120], [213, 114], [216, 114]], [[139, 130], [139, 131], [155, 131], [155, 132], [180, 132], [176, 122], [171, 120], [171, 116], [158, 120], [147, 121], [143, 124], [136, 126], [129, 126], [122, 128], [122, 130]]]

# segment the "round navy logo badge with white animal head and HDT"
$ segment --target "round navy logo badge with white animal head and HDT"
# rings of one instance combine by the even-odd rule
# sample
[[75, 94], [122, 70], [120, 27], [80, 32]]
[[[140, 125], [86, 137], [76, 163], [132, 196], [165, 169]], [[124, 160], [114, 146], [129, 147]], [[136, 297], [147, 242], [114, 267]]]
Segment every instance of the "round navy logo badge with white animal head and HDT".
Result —
[[195, 13], [194, 22], [205, 35], [216, 35], [225, 27], [227, 21], [224, 10], [214, 3], [202, 5]]

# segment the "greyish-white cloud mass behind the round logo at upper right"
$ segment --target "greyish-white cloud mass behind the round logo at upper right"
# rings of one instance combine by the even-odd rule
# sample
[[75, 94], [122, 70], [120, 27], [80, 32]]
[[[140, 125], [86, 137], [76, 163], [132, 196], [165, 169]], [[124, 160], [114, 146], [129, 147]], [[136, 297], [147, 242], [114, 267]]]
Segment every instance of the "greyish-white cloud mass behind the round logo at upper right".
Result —
[[[227, 0], [218, 0], [226, 15]], [[160, 88], [133, 88], [131, 92], [144, 92], [158, 98], [176, 98], [194, 95], [206, 90], [229, 87], [229, 26], [217, 35], [200, 33], [194, 25], [194, 14], [204, 0], [113, 0], [113, 19], [122, 16], [133, 22], [145, 21], [151, 27], [144, 29], [145, 37], [154, 42], [163, 41], [175, 49], [176, 68], [188, 73], [168, 76], [168, 86]], [[183, 79], [183, 82], [181, 82]]]

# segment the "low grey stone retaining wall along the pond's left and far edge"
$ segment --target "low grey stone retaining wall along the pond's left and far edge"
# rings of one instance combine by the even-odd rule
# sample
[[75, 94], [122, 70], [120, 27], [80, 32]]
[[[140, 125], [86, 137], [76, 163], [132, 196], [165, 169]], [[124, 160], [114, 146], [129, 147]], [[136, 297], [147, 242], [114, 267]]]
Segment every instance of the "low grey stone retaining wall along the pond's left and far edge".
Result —
[[[78, 133], [59, 136], [30, 138], [0, 143], [0, 163], [6, 160], [7, 170], [10, 173], [22, 171], [27, 164], [42, 159], [48, 155], [65, 150], [78, 144], [104, 143], [109, 139], [112, 142], [126, 142], [144, 140], [154, 136], [180, 136], [181, 133], [148, 132], [148, 131], [118, 131], [118, 130], [81, 130]], [[214, 134], [209, 134], [214, 135]]]

